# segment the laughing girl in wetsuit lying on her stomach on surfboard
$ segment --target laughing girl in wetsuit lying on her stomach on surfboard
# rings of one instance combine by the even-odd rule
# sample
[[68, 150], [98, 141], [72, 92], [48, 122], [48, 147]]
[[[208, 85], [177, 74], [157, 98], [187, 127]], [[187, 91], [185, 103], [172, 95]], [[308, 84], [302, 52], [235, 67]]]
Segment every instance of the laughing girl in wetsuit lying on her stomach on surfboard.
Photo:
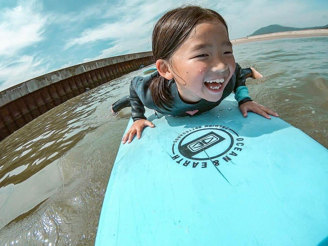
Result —
[[217, 106], [232, 91], [243, 116], [247, 111], [270, 119], [274, 111], [252, 101], [246, 78], [261, 78], [254, 69], [235, 62], [228, 27], [216, 11], [198, 6], [165, 13], [153, 31], [157, 72], [131, 81], [130, 96], [112, 105], [112, 112], [131, 106], [133, 124], [122, 141], [139, 139], [144, 127], [155, 125], [144, 116], [144, 106], [161, 114], [193, 116]]

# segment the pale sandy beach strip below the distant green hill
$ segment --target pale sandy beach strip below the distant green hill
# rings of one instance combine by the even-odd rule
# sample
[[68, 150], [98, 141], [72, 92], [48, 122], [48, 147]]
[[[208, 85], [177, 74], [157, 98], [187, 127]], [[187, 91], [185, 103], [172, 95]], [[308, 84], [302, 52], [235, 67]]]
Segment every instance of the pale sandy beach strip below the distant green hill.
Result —
[[256, 41], [265, 41], [270, 39], [279, 39], [279, 38], [291, 38], [291, 37], [314, 37], [314, 36], [328, 36], [328, 29], [309, 29], [302, 31], [289, 31], [289, 32], [278, 32], [278, 33], [269, 33], [261, 34], [249, 37], [242, 37], [238, 39], [230, 40], [233, 45], [244, 44]]

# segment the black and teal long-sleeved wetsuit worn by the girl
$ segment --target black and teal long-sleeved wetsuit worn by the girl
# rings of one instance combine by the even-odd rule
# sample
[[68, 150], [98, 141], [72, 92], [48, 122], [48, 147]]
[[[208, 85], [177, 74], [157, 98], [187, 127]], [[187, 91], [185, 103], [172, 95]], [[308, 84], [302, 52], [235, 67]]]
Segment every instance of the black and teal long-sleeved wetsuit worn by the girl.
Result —
[[[155, 105], [154, 101], [152, 100], [151, 92], [149, 90], [149, 82], [153, 79], [158, 77], [158, 72], [155, 72], [147, 77], [134, 77], [130, 84], [130, 95], [121, 98], [120, 100], [116, 101], [112, 105], [112, 109], [114, 112], [121, 110], [122, 108], [131, 106], [131, 117], [133, 121], [140, 120], [140, 119], [147, 119], [144, 115], [145, 107], [154, 109], [155, 111], [164, 114], [164, 115], [174, 115], [174, 116], [191, 116], [204, 113], [206, 111], [211, 110], [212, 108], [216, 107], [220, 104], [220, 102], [229, 96], [233, 91], [236, 93], [238, 87], [238, 91], [243, 90], [244, 96], [239, 96], [238, 105], [246, 102], [252, 101], [252, 99], [248, 96], [248, 90], [245, 86], [246, 78], [252, 77], [252, 70], [250, 68], [242, 69], [238, 63], [236, 63], [236, 70], [229, 80], [228, 84], [223, 90], [223, 95], [219, 101], [211, 102], [201, 99], [196, 103], [186, 103], [182, 101], [179, 97], [178, 90], [176, 87], [176, 83], [174, 79], [169, 80], [169, 89], [173, 96], [172, 104], [169, 109], [163, 109]], [[245, 90], [247, 93], [245, 94]], [[237, 92], [238, 92], [237, 91]]]

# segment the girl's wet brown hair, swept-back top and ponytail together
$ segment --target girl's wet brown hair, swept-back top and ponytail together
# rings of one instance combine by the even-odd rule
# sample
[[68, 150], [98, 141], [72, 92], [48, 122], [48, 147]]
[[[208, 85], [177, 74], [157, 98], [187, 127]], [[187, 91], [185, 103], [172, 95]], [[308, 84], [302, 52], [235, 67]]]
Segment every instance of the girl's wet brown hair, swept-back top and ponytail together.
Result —
[[[166, 12], [155, 24], [153, 31], [153, 57], [154, 60], [163, 59], [172, 66], [174, 51], [183, 42], [195, 24], [202, 21], [217, 20], [227, 29], [223, 17], [216, 11], [204, 9], [199, 6], [182, 6]], [[172, 108], [172, 95], [169, 81], [158, 76], [149, 85], [154, 103], [160, 108]]]

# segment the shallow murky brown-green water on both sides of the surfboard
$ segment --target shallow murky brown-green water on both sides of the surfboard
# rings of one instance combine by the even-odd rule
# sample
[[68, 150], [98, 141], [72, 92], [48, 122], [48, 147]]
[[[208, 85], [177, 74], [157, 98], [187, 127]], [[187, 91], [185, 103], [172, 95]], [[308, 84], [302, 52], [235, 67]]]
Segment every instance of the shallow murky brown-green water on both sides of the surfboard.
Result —
[[[247, 80], [254, 101], [328, 147], [327, 37], [236, 45], [234, 54], [242, 67], [253, 66], [264, 75]], [[1, 142], [0, 245], [94, 244], [108, 178], [130, 118], [129, 109], [113, 116], [109, 107], [141, 73], [79, 95]]]

